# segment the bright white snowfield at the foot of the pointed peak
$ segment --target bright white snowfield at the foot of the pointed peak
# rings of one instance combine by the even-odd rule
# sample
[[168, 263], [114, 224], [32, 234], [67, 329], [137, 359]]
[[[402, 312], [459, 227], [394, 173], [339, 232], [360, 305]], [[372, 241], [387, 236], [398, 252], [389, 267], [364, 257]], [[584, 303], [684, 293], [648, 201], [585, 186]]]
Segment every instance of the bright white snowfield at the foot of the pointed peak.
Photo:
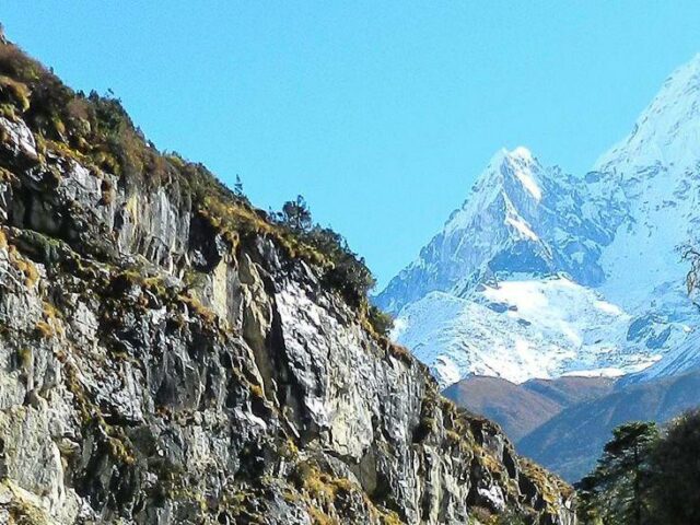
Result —
[[631, 340], [631, 323], [629, 314], [562, 276], [479, 284], [467, 298], [429, 293], [401, 311], [393, 335], [443, 386], [467, 372], [521, 383], [643, 369], [655, 360], [656, 331]]

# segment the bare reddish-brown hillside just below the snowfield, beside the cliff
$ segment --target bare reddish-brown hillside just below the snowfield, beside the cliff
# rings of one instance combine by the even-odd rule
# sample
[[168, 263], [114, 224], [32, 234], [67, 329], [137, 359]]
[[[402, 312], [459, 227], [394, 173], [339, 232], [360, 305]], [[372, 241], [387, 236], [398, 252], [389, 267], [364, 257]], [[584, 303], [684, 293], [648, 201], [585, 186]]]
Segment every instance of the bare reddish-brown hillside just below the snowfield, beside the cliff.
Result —
[[468, 376], [445, 388], [445, 397], [459, 407], [497, 421], [517, 441], [583, 399], [599, 397], [612, 388], [605, 377], [529, 380], [522, 384], [500, 377]]

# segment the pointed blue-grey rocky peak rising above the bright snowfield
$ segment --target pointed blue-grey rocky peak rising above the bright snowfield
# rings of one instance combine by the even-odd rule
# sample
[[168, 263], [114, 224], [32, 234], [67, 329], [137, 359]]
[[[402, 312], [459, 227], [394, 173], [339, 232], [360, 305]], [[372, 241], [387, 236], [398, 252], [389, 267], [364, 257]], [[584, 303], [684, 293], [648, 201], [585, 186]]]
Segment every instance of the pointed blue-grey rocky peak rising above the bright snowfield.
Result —
[[394, 278], [376, 303], [398, 313], [431, 291], [464, 293], [501, 272], [567, 271], [598, 282], [596, 254], [584, 240], [608, 240], [602, 224], [581, 210], [580, 184], [546, 168], [525, 148], [501, 150], [478, 177], [460, 209], [419, 258]]

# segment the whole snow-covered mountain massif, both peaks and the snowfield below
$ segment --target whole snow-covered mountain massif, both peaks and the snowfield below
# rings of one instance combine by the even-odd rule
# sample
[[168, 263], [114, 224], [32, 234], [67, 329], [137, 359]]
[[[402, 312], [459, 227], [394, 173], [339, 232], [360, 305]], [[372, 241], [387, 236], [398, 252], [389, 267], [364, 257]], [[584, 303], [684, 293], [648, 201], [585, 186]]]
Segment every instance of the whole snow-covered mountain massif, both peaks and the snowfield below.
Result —
[[583, 177], [497, 153], [376, 302], [445, 385], [700, 365], [680, 256], [700, 223], [699, 161], [700, 56]]

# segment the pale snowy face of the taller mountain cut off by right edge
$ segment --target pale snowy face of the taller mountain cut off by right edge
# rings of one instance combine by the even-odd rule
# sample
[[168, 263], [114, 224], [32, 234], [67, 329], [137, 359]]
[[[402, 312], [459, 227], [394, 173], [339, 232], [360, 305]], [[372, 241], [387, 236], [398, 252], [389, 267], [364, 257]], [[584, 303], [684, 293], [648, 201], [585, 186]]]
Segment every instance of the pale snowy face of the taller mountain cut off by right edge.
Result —
[[[603, 254], [604, 293], [626, 307], [655, 301], [689, 307], [679, 247], [700, 217], [700, 56], [678, 69], [642, 112], [633, 131], [605, 153], [596, 172], [621, 189], [628, 212]], [[640, 262], [640, 257], [642, 264]], [[635, 271], [629, 271], [634, 265]]]

